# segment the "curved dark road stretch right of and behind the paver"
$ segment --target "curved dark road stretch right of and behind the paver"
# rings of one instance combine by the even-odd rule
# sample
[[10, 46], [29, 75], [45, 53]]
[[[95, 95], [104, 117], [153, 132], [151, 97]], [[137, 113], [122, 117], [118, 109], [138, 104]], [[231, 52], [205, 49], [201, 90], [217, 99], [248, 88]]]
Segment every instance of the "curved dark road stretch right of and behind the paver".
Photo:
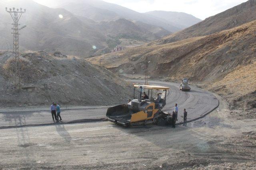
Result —
[[[132, 80], [132, 82], [142, 82], [141, 80]], [[183, 121], [183, 109], [188, 111], [187, 121], [191, 121], [210, 113], [218, 105], [218, 99], [206, 90], [191, 87], [189, 92], [182, 92], [180, 84], [162, 81], [149, 81], [150, 85], [160, 85], [169, 87], [170, 90], [166, 97], [166, 106], [162, 109], [165, 112], [174, 111], [174, 105], [178, 104], [178, 122]]]

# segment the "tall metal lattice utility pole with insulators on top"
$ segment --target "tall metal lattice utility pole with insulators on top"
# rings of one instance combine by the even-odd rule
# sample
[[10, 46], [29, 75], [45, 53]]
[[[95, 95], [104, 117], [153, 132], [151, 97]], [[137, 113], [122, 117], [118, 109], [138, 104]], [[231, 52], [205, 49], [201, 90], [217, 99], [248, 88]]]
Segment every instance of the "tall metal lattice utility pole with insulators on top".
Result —
[[[20, 89], [20, 54], [19, 54], [19, 30], [26, 27], [23, 26], [22, 28], [19, 29], [19, 20], [20, 17], [23, 13], [26, 12], [26, 9], [22, 10], [22, 8], [20, 9], [16, 9], [16, 8], [10, 8], [8, 10], [8, 8], [5, 8], [6, 12], [8, 12], [11, 17], [12, 20], [14, 21], [14, 23], [12, 23], [13, 27], [12, 27], [12, 34], [13, 34], [13, 47], [12, 47], [12, 72], [14, 73], [14, 84], [15, 84], [15, 88], [19, 88]], [[18, 80], [17, 80], [18, 79]]]

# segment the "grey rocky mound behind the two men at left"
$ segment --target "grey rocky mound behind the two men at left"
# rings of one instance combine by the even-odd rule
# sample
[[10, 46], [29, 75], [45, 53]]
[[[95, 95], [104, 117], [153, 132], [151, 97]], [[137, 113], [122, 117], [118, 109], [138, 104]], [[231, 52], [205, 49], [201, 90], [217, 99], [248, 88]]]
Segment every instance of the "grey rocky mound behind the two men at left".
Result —
[[77, 57], [45, 52], [23, 54], [22, 90], [15, 90], [12, 53], [0, 53], [0, 106], [113, 105], [127, 102], [130, 89], [125, 82], [105, 68]]

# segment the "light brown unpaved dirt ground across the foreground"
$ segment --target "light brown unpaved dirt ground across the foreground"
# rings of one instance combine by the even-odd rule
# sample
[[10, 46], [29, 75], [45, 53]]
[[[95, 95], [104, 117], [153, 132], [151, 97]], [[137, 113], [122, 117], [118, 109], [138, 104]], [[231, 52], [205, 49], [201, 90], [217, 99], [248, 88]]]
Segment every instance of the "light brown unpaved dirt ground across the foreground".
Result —
[[0, 169], [255, 169], [255, 120], [231, 116], [216, 98], [218, 108], [175, 129], [108, 121], [0, 129]]

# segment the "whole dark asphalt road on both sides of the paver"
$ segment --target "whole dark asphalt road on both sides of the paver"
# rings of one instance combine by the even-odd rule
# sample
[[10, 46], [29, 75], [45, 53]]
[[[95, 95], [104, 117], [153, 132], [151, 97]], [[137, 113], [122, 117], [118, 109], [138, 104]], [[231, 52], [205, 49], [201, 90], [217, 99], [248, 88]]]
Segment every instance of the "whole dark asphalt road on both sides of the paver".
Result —
[[[143, 82], [142, 80], [129, 80], [131, 82]], [[187, 121], [202, 117], [218, 106], [216, 97], [200, 88], [192, 87], [190, 92], [179, 90], [178, 83], [150, 81], [150, 84], [170, 87], [163, 111], [171, 112], [174, 104], [178, 104], [178, 122], [183, 121], [183, 109], [188, 111]], [[108, 107], [89, 107], [86, 109], [62, 110], [63, 121], [60, 123], [90, 122], [102, 120], [106, 117]], [[50, 111], [19, 111], [0, 113], [0, 129], [22, 126], [51, 125]]]

